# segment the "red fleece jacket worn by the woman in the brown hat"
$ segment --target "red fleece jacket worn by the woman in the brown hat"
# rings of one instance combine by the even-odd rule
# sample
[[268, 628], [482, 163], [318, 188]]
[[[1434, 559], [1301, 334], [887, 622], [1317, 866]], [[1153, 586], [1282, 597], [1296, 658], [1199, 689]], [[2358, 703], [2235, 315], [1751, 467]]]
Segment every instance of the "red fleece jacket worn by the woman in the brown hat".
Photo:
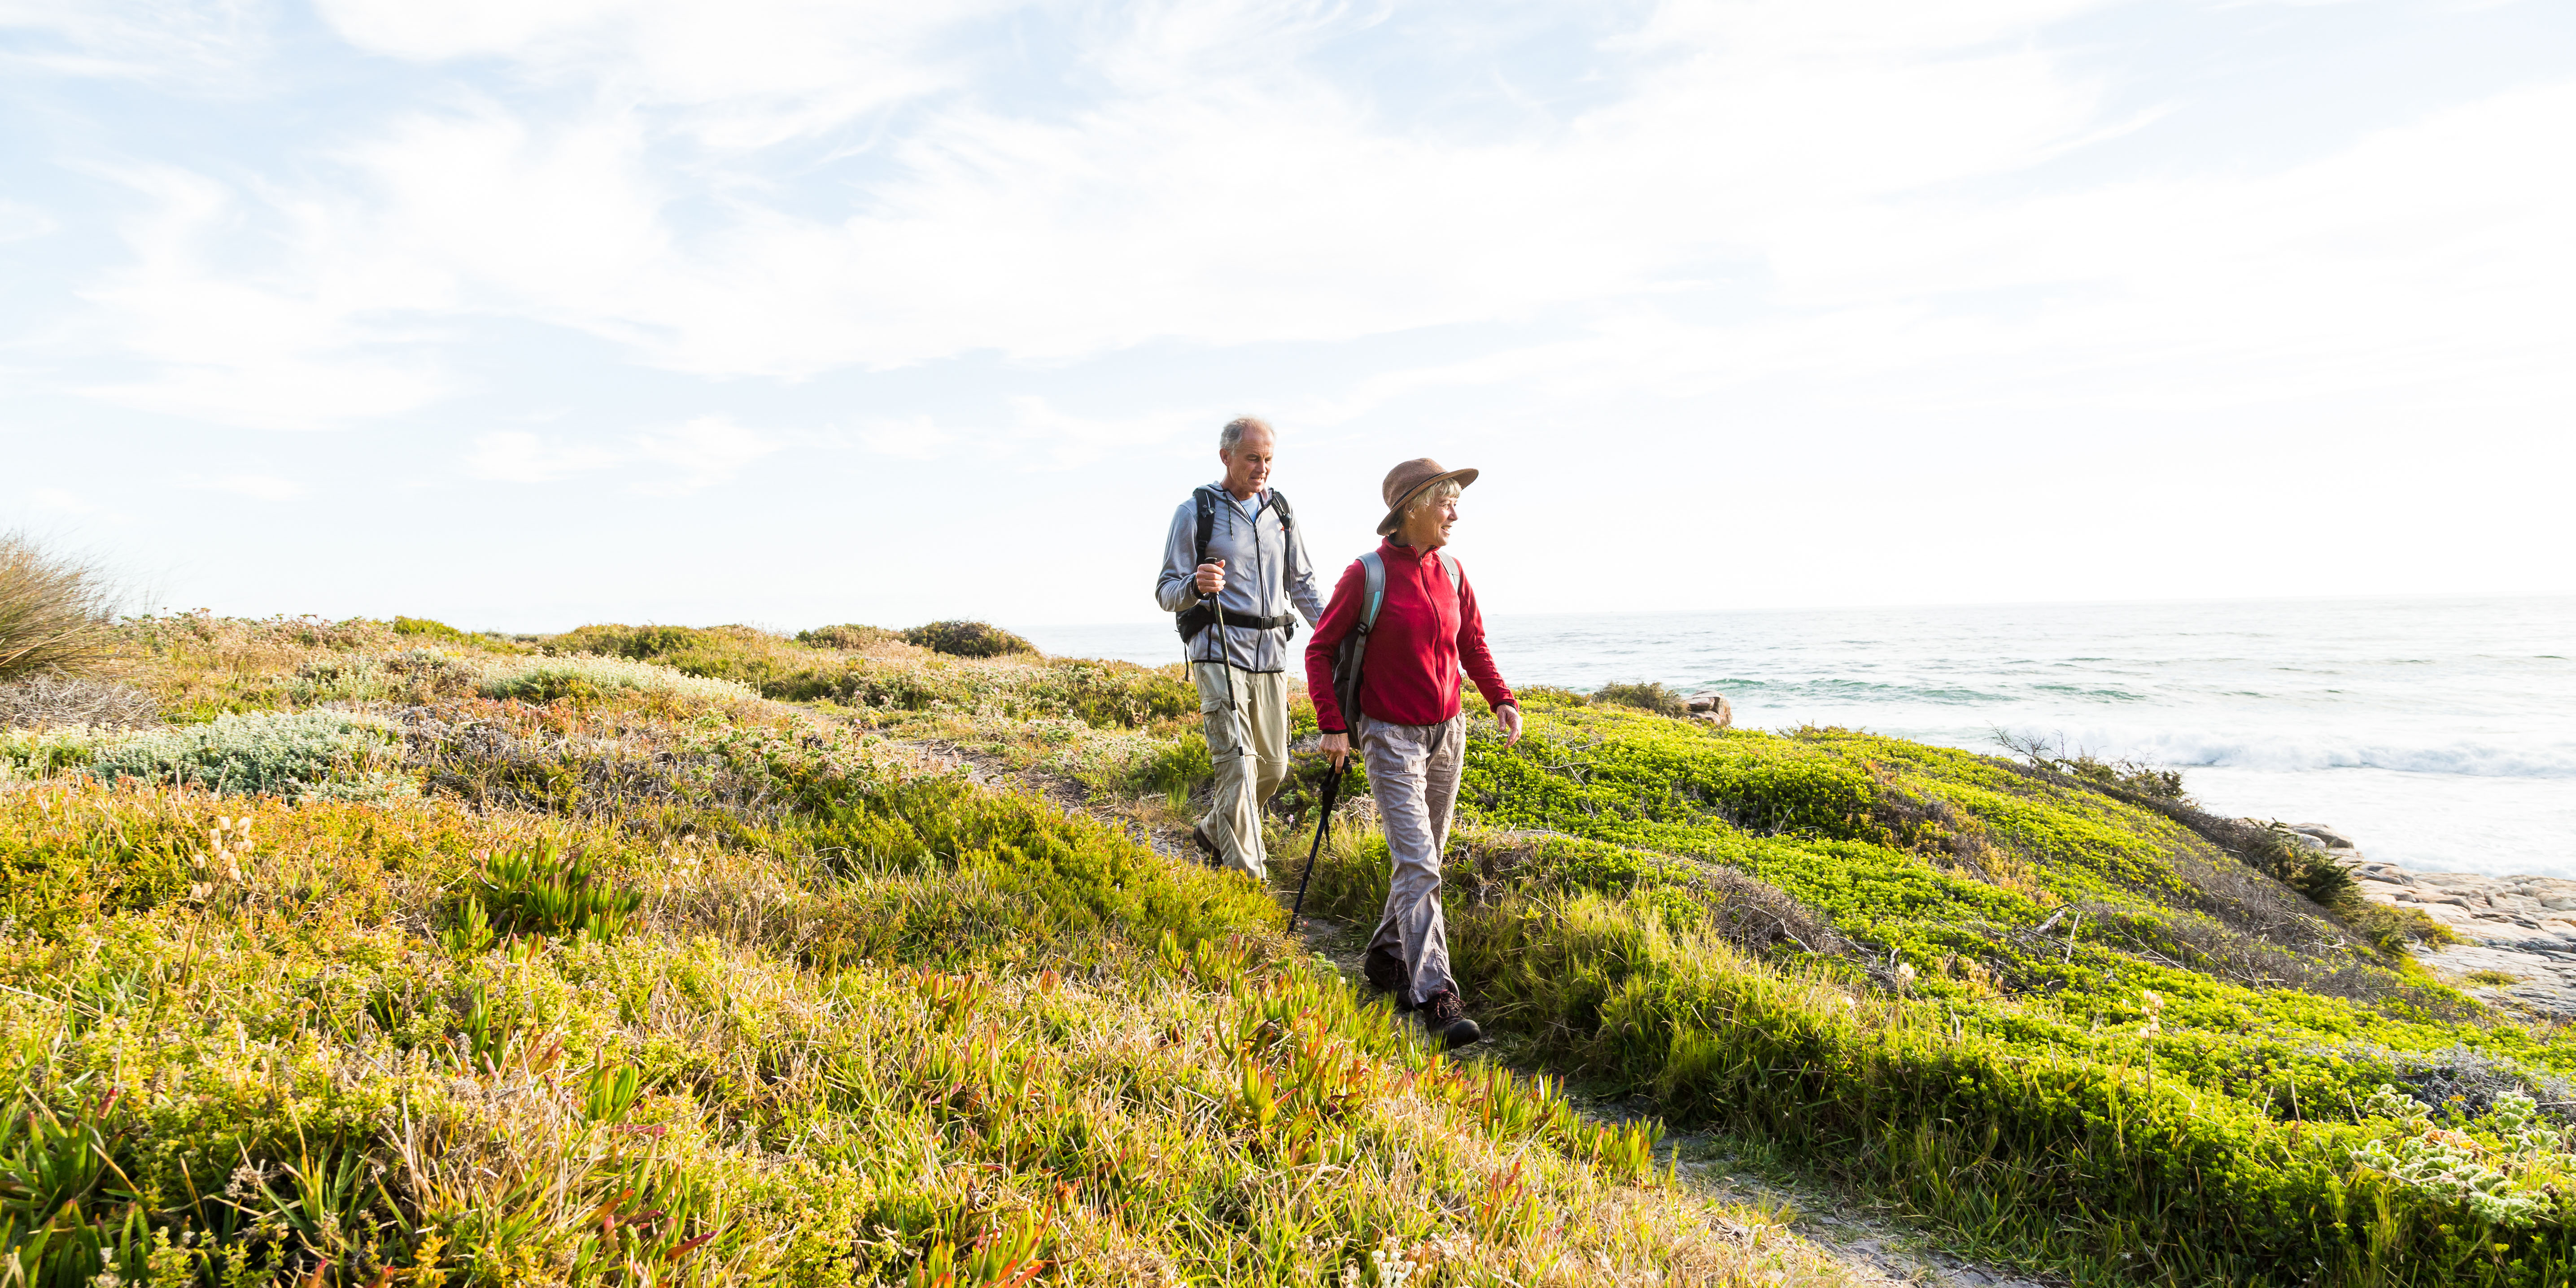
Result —
[[[1440, 559], [1425, 559], [1412, 546], [1381, 544], [1378, 559], [1386, 562], [1386, 603], [1378, 605], [1368, 657], [1360, 662], [1360, 711], [1391, 724], [1440, 724], [1458, 714], [1461, 662], [1489, 706], [1515, 706], [1484, 647], [1484, 613], [1476, 611], [1466, 569], [1458, 569], [1453, 587]], [[1352, 559], [1306, 641], [1306, 696], [1327, 734], [1350, 732], [1332, 693], [1332, 654], [1360, 623], [1365, 595], [1368, 572]]]

